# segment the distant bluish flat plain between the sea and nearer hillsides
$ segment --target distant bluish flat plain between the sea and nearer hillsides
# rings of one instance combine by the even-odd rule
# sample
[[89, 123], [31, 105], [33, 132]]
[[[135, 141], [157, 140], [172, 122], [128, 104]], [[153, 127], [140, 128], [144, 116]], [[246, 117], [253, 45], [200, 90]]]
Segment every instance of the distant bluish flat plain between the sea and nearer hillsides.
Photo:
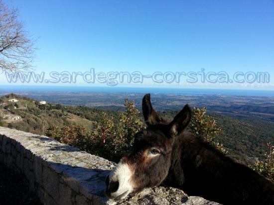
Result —
[[[191, 107], [207, 107], [207, 110], [212, 113], [215, 112], [237, 118], [254, 117], [274, 122], [274, 97], [271, 97], [271, 95], [269, 97], [234, 96], [233, 94], [237, 94], [237, 90], [230, 95], [167, 94], [163, 93], [164, 90], [159, 93], [153, 93], [150, 89], [147, 89], [146, 92], [151, 94], [151, 103], [156, 110], [178, 110], [186, 103], [189, 103]], [[180, 92], [184, 92], [184, 89], [181, 89]], [[223, 92], [225, 93], [225, 90]], [[0, 92], [0, 95], [6, 94], [1, 94]], [[39, 101], [61, 103], [63, 105], [82, 105], [97, 109], [121, 111], [126, 98], [134, 100], [136, 107], [141, 109], [144, 93], [105, 93], [98, 90], [97, 92], [24, 92], [20, 93], [20, 95]]]

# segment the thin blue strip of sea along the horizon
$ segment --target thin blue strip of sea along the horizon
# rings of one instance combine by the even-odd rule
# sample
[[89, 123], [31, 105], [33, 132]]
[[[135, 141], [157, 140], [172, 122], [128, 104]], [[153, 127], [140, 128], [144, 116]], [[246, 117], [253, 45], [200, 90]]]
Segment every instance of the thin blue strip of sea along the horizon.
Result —
[[189, 89], [189, 88], [137, 88], [137, 87], [81, 87], [81, 86], [9, 86], [0, 85], [0, 93], [153, 93], [178, 95], [228, 95], [274, 97], [271, 90]]

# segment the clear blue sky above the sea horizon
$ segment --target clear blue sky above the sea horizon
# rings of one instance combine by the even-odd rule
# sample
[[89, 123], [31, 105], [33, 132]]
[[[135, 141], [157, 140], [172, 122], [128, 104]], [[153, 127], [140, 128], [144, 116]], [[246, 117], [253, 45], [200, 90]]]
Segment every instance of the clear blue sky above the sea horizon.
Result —
[[130, 86], [274, 90], [274, 0], [5, 2], [37, 38], [37, 73], [264, 71], [269, 84]]

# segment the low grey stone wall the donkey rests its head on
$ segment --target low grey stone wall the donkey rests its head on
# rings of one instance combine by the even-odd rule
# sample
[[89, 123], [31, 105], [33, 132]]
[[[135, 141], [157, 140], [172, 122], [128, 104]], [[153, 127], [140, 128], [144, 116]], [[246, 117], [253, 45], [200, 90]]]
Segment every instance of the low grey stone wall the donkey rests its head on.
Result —
[[[42, 204], [116, 204], [104, 195], [105, 177], [116, 164], [49, 137], [0, 127], [0, 163], [23, 174]], [[217, 205], [168, 187], [146, 189], [118, 204]]]

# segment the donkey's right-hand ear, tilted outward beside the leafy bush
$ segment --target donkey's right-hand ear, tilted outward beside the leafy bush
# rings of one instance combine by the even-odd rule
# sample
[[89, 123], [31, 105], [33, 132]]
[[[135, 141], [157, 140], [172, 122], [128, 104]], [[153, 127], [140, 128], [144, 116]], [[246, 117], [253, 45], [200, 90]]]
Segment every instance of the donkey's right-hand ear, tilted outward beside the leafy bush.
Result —
[[191, 108], [188, 104], [169, 123], [172, 136], [179, 135], [189, 124], [191, 119]]

